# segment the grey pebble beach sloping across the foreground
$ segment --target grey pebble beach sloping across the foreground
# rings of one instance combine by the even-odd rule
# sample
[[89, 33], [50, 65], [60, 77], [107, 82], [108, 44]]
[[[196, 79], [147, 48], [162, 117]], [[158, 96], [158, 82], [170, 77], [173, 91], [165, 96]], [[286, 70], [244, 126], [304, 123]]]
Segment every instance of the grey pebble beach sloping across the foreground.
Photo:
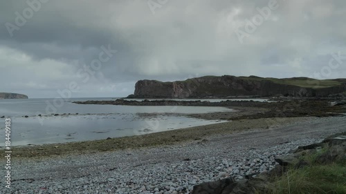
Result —
[[[223, 126], [231, 128], [232, 122]], [[345, 129], [345, 117], [298, 117], [272, 128], [259, 123], [237, 133], [212, 133], [176, 144], [12, 157], [11, 189], [2, 182], [0, 193], [190, 193], [202, 182], [228, 176], [239, 180], [268, 171], [275, 165], [274, 157]]]

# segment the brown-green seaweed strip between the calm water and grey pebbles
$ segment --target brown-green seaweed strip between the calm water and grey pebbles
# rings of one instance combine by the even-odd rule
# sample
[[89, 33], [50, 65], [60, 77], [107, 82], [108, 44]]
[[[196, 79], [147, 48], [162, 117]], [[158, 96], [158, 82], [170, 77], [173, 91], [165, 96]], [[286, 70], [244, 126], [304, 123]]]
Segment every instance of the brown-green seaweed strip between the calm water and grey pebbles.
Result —
[[[84, 142], [15, 146], [12, 147], [12, 156], [15, 158], [41, 159], [46, 157], [61, 157], [63, 155], [84, 155], [98, 152], [167, 146], [183, 144], [185, 142], [203, 142], [214, 135], [228, 135], [256, 129], [264, 130], [271, 127], [277, 128], [287, 124], [295, 124], [304, 119], [307, 119], [307, 117], [239, 119], [232, 122], [167, 130], [145, 135]], [[273, 125], [273, 120], [275, 120], [276, 125]], [[0, 149], [0, 151], [4, 150], [4, 148]]]

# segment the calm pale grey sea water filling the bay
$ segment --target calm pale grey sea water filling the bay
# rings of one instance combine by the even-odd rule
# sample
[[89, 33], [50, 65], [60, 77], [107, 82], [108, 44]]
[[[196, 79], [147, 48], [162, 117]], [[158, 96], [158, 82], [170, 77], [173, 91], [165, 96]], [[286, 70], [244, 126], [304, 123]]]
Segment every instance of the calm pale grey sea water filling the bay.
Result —
[[[12, 146], [19, 146], [124, 137], [201, 126], [220, 121], [178, 117], [165, 113], [233, 111], [222, 107], [114, 106], [72, 103], [72, 101], [86, 100], [111, 100], [111, 98], [69, 99], [62, 104], [59, 101], [55, 101], [54, 104], [53, 99], [1, 99], [0, 117], [10, 117]], [[143, 117], [138, 113], [160, 114]], [[39, 114], [42, 117], [37, 116]], [[59, 115], [55, 116], [55, 114]], [[25, 115], [28, 118], [24, 117]], [[5, 144], [4, 127], [5, 119], [3, 118], [0, 119], [0, 146]]]

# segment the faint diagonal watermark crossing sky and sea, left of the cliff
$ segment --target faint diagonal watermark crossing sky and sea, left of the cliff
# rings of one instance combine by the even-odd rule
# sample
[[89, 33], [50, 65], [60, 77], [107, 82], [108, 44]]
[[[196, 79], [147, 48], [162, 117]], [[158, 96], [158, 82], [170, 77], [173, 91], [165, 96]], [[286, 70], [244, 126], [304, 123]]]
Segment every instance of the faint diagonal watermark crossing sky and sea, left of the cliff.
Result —
[[[118, 52], [117, 50], [112, 50], [111, 45], [108, 45], [108, 48], [105, 46], [101, 46], [100, 48], [102, 51], [98, 54], [98, 59], [93, 59], [89, 66], [84, 65], [83, 68], [77, 71], [77, 77], [82, 79], [81, 82], [83, 84], [86, 84], [91, 77], [95, 77], [95, 73], [102, 68], [102, 65]], [[78, 92], [78, 90], [80, 90], [80, 86], [77, 81], [71, 81], [63, 90], [58, 89], [57, 94], [59, 96], [53, 99], [53, 104], [46, 100], [46, 115], [56, 114], [58, 108], [62, 108], [64, 103], [72, 97], [72, 93]], [[42, 115], [42, 113], [36, 112], [36, 115]], [[37, 119], [39, 119], [39, 123], [43, 126], [44, 117], [37, 117]]]

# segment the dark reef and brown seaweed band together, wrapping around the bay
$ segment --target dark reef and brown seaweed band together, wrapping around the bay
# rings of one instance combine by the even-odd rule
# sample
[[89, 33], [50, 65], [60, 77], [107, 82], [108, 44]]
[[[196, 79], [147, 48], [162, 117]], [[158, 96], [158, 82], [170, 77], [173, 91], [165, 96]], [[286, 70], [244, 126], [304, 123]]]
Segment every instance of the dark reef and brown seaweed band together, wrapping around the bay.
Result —
[[[84, 101], [82, 104], [124, 104], [124, 100], [116, 101]], [[128, 103], [128, 102], [126, 102]], [[201, 104], [201, 101], [129, 101], [134, 104], [164, 104], [174, 103], [176, 106], [182, 104]], [[178, 103], [178, 104], [177, 104]], [[223, 101], [223, 102], [202, 102], [204, 105], [216, 105], [226, 108], [233, 108], [237, 112], [217, 112], [201, 114], [181, 114], [185, 117], [195, 117], [198, 119], [224, 120], [219, 124], [209, 124], [205, 126], [195, 126], [167, 130], [146, 135], [134, 135], [127, 137], [115, 137], [84, 142], [66, 142], [62, 144], [44, 144], [33, 146], [13, 147], [13, 156], [30, 157], [50, 157], [71, 154], [88, 154], [104, 151], [125, 150], [128, 148], [142, 148], [162, 146], [169, 144], [179, 144], [181, 142], [201, 141], [210, 135], [229, 134], [239, 131], [271, 128], [272, 126], [282, 126], [284, 124], [294, 124], [304, 118], [313, 117], [345, 117], [346, 106], [331, 105], [325, 100], [296, 100], [276, 103], [258, 101]], [[154, 113], [156, 114], [156, 113]], [[158, 113], [161, 114], [161, 113]], [[167, 114], [167, 113], [165, 113]], [[167, 115], [169, 115], [168, 113]], [[173, 113], [176, 114], [176, 113]], [[152, 113], [143, 113], [143, 116], [151, 116]], [[1, 148], [0, 151], [4, 151]]]

